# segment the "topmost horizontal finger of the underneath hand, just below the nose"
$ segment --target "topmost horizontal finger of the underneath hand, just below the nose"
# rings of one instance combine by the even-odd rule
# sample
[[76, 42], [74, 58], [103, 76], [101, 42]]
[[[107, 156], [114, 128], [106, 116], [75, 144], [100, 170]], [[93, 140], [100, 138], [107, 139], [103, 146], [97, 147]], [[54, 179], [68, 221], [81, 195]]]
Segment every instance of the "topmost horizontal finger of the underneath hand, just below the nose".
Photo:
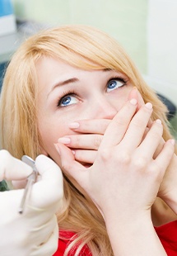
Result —
[[80, 133], [95, 133], [103, 135], [109, 125], [109, 119], [80, 120], [69, 124], [69, 128]]

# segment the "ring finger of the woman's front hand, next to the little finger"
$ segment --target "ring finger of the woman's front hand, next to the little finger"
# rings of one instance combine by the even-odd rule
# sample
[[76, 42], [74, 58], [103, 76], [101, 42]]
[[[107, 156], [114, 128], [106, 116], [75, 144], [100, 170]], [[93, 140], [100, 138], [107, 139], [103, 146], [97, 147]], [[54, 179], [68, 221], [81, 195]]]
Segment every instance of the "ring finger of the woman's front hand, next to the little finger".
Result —
[[147, 132], [144, 140], [142, 140], [141, 145], [138, 146], [137, 154], [141, 155], [143, 159], [150, 161], [161, 142], [161, 136], [163, 134], [163, 126], [160, 120], [156, 120], [151, 129]]

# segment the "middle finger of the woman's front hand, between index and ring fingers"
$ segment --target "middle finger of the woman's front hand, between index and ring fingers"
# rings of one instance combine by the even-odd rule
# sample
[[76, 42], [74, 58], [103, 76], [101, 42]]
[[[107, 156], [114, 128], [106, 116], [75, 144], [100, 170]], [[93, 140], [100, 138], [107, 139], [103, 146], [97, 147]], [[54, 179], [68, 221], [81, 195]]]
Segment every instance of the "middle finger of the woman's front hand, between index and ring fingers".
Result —
[[126, 135], [123, 138], [123, 145], [127, 150], [136, 149], [140, 145], [147, 123], [151, 117], [152, 105], [150, 102], [140, 108], [139, 111], [133, 116], [132, 121], [128, 126]]

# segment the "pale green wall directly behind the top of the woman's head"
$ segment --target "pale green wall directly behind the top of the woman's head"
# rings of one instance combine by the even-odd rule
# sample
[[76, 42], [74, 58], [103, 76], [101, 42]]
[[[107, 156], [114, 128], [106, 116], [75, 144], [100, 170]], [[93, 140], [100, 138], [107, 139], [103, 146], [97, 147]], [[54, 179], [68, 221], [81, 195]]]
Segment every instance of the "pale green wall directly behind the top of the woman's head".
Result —
[[13, 0], [16, 17], [49, 26], [96, 26], [119, 40], [147, 73], [148, 0]]

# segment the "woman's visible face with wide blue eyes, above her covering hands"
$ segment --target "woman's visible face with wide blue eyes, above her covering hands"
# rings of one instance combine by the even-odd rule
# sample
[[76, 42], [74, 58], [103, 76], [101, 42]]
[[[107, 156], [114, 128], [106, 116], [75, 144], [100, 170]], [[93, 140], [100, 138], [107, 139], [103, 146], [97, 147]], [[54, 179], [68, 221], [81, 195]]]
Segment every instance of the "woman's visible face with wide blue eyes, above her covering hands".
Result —
[[54, 144], [60, 137], [75, 133], [68, 125], [86, 119], [112, 119], [133, 88], [123, 73], [77, 69], [49, 57], [41, 58], [36, 69], [42, 153], [58, 159], [58, 164]]

